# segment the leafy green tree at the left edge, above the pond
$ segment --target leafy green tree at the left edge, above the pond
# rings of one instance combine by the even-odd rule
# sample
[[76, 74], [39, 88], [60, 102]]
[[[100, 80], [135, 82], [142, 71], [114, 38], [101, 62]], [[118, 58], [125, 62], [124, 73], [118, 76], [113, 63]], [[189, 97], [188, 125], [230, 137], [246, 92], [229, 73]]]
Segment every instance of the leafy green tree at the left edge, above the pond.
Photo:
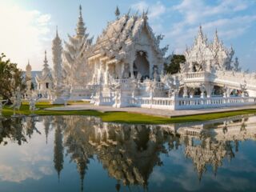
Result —
[[[6, 55], [0, 56], [0, 96], [10, 98], [12, 93], [19, 86], [21, 90], [25, 90], [26, 84], [22, 78], [22, 70], [19, 70], [17, 64], [5, 60]], [[13, 77], [14, 75], [14, 77]]]

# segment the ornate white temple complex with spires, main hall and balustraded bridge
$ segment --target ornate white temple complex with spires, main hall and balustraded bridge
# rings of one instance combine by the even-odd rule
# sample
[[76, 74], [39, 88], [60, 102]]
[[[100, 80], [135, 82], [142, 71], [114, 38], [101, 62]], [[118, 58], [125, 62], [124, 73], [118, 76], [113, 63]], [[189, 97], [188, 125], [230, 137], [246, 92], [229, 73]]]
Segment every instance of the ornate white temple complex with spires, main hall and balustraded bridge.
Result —
[[194, 46], [185, 51], [178, 74], [163, 70], [168, 46], [159, 46], [147, 13], [119, 15], [93, 43], [79, 7], [76, 34], [54, 38], [54, 70], [45, 59], [37, 77], [38, 93], [58, 100], [90, 99], [94, 105], [137, 106], [168, 110], [250, 105], [256, 101], [256, 74], [241, 72], [234, 50], [214, 34], [208, 42], [202, 26]]

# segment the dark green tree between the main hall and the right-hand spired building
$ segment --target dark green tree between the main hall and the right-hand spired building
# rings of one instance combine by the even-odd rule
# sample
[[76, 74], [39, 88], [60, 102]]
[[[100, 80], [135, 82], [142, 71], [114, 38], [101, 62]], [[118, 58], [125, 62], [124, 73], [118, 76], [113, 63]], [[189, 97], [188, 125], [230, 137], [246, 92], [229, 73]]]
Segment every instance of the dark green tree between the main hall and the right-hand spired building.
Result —
[[182, 54], [174, 54], [170, 63], [165, 64], [166, 74], [177, 74], [181, 68], [180, 64], [186, 62], [186, 58]]

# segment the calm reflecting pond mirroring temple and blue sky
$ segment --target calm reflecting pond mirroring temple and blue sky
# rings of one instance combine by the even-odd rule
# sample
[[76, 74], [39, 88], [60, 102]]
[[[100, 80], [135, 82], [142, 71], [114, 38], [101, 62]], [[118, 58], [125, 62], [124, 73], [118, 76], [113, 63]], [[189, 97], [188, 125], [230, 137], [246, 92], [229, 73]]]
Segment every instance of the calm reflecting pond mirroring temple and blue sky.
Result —
[[256, 191], [256, 117], [0, 119], [0, 191]]

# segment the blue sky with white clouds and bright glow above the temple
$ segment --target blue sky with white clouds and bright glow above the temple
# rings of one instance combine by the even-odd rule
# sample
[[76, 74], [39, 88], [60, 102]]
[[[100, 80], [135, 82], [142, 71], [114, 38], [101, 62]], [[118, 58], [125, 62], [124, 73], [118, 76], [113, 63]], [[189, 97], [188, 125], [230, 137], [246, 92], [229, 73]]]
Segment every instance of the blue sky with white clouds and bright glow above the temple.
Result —
[[42, 70], [46, 50], [52, 66], [56, 26], [63, 41], [74, 35], [79, 5], [94, 40], [115, 19], [116, 6], [121, 14], [148, 9], [154, 33], [165, 35], [161, 46], [170, 46], [167, 54], [192, 46], [202, 25], [209, 41], [217, 29], [222, 42], [233, 46], [243, 70], [256, 70], [256, 0], [0, 0], [0, 53], [22, 70], [28, 61], [32, 70]]

